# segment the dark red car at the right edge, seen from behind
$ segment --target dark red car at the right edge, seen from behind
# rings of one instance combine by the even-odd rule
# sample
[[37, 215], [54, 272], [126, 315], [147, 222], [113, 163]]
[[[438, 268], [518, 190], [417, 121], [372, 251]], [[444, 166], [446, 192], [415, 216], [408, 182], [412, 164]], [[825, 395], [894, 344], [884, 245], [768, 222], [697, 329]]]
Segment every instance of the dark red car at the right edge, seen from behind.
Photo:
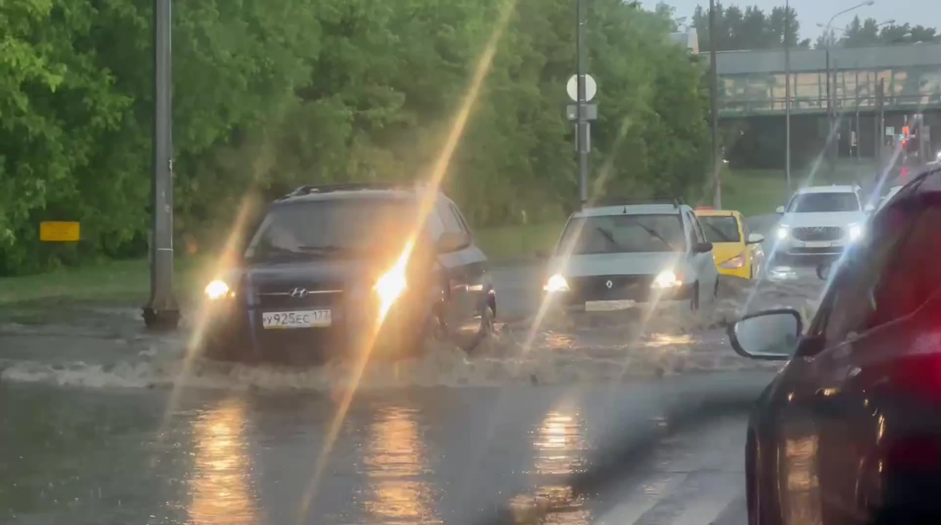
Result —
[[729, 327], [788, 361], [748, 425], [752, 525], [941, 523], [941, 167], [870, 220], [806, 331], [789, 309]]

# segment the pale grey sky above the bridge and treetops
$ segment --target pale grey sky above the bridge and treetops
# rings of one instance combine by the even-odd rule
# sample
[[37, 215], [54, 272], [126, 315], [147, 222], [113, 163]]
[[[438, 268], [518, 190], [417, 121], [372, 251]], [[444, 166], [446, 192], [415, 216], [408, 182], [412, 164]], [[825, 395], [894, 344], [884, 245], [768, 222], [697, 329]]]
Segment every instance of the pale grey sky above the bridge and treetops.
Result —
[[[677, 8], [677, 17], [691, 17], [697, 5], [709, 7], [709, 0], [665, 0], [667, 4]], [[814, 39], [823, 33], [817, 24], [826, 24], [830, 17], [845, 8], [859, 5], [862, 0], [789, 0], [790, 6], [797, 11], [797, 20], [801, 23], [801, 38]], [[643, 0], [646, 8], [654, 8], [657, 0]], [[740, 8], [758, 6], [770, 11], [775, 6], [784, 6], [784, 0], [723, 0], [724, 6], [736, 5]], [[834, 20], [837, 27], [844, 27], [853, 20], [853, 15], [859, 18], [874, 18], [879, 22], [895, 20], [896, 24], [925, 25], [941, 29], [941, 0], [875, 0], [875, 4], [868, 7], [854, 9], [844, 13]]]

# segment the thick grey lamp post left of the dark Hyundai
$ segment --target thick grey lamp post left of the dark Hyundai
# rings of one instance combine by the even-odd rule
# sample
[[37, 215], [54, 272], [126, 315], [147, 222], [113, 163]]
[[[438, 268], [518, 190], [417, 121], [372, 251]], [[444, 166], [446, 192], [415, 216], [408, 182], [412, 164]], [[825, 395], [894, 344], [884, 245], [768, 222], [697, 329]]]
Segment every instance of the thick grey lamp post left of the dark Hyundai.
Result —
[[173, 147], [170, 51], [170, 1], [153, 6], [153, 181], [151, 300], [144, 324], [152, 329], [175, 328], [180, 308], [173, 296]]

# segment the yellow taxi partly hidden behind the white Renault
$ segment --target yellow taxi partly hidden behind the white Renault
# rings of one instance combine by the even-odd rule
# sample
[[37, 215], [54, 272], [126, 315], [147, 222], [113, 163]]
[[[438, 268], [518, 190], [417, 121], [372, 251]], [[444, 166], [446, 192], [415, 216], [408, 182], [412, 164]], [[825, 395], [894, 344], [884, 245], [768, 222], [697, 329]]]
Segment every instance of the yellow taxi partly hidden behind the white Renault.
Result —
[[695, 209], [695, 214], [706, 240], [712, 243], [712, 259], [719, 273], [756, 278], [765, 259], [761, 248], [764, 236], [748, 231], [739, 212], [701, 207]]

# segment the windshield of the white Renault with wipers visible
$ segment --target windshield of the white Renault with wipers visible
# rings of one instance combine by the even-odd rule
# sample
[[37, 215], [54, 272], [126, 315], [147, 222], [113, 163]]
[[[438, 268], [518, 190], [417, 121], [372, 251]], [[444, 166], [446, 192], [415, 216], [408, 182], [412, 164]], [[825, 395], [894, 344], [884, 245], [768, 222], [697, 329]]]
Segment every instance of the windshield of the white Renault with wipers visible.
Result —
[[575, 217], [568, 221], [558, 253], [569, 246], [572, 255], [683, 251], [686, 235], [674, 214]]

